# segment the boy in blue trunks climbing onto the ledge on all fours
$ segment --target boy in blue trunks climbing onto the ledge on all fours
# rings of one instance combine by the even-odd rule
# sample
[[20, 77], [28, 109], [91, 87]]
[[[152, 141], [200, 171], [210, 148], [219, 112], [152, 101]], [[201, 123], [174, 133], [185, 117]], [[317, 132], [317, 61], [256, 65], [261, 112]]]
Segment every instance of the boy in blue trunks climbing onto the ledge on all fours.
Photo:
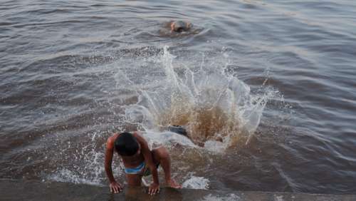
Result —
[[147, 141], [138, 133], [115, 133], [108, 138], [105, 151], [105, 171], [110, 181], [110, 191], [117, 193], [122, 191], [122, 185], [115, 181], [112, 175], [112, 156], [114, 150], [121, 156], [125, 166], [125, 175], [129, 186], [140, 186], [142, 176], [152, 174], [148, 193], [155, 195], [159, 192], [159, 180], [157, 168], [159, 165], [164, 170], [164, 177], [169, 187], [181, 188], [171, 178], [171, 162], [166, 148], [159, 147], [154, 150], [148, 148]]

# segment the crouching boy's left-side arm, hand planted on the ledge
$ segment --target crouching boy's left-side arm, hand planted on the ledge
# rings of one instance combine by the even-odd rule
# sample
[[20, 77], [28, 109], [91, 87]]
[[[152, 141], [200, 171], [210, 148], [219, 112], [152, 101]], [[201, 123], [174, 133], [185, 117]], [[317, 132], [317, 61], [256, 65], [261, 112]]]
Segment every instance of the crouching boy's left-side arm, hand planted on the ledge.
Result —
[[112, 175], [112, 156], [114, 155], [114, 139], [112, 137], [108, 138], [105, 150], [105, 172], [110, 181], [110, 191], [111, 192], [121, 192], [122, 187], [119, 183], [115, 181], [114, 175]]

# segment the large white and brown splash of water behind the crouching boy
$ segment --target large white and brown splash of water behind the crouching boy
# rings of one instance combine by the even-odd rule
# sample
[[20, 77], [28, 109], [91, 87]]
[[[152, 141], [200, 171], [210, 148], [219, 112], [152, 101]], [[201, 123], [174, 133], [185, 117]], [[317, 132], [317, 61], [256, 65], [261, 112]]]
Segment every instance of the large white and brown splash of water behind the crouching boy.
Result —
[[127, 105], [128, 122], [140, 122], [145, 130], [182, 125], [193, 143], [206, 147], [248, 143], [271, 93], [251, 94], [226, 66], [206, 65], [204, 59], [198, 67], [189, 62], [176, 67], [168, 46], [154, 60], [161, 77], [135, 86], [139, 101]]

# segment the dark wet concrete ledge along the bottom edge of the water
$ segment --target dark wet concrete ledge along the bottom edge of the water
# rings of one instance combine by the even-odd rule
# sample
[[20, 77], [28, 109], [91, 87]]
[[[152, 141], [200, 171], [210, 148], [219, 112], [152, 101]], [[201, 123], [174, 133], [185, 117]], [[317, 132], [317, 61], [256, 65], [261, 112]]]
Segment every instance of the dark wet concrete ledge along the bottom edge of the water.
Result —
[[147, 195], [144, 187], [125, 188], [111, 194], [108, 187], [75, 185], [66, 182], [0, 180], [0, 200], [356, 200], [356, 195], [320, 195], [290, 192], [219, 190], [174, 190], [162, 188], [158, 195]]

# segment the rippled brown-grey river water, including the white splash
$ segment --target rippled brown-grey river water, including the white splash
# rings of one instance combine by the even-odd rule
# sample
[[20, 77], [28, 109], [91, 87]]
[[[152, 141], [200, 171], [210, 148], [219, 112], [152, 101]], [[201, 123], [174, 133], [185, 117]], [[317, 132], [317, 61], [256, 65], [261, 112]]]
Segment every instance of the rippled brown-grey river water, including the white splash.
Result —
[[355, 194], [355, 25], [352, 0], [1, 0], [0, 177], [107, 185], [106, 139], [141, 130], [184, 187]]

